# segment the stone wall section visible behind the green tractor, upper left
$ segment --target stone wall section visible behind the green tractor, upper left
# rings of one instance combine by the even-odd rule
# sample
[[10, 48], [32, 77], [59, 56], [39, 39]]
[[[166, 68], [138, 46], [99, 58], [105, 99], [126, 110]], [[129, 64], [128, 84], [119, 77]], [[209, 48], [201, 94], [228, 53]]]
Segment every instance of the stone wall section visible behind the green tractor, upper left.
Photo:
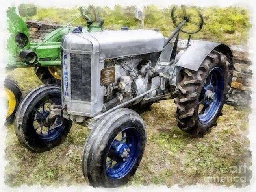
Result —
[[62, 27], [51, 22], [33, 22], [28, 21], [28, 30], [30, 33], [30, 39], [32, 42], [40, 42], [45, 35]]

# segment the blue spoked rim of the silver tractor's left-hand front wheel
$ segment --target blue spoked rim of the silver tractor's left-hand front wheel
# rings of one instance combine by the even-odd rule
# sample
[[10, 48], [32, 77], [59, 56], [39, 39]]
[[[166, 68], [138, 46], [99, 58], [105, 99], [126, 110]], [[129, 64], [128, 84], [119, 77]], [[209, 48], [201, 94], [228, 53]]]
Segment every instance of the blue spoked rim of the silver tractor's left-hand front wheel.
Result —
[[38, 138], [46, 142], [55, 140], [61, 135], [64, 124], [60, 116], [52, 120], [51, 124], [46, 125], [46, 118], [50, 114], [49, 110], [46, 109], [45, 104], [50, 101], [44, 102], [36, 111], [34, 118], [34, 129]]

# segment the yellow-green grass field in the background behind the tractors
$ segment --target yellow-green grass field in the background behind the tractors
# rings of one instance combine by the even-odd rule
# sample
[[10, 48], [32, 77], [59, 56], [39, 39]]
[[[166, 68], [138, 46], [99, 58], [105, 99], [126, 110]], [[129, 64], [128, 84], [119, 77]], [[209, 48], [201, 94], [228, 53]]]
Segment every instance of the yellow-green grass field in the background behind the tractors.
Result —
[[[172, 7], [160, 9], [157, 6], [149, 5], [145, 13], [145, 28], [157, 28], [163, 35], [169, 36], [174, 30], [171, 20]], [[113, 9], [108, 6], [95, 8], [96, 13], [104, 18], [106, 29], [117, 30], [121, 26], [128, 26], [132, 29], [140, 28], [140, 22], [134, 17], [136, 6], [122, 7], [116, 5]], [[204, 27], [199, 33], [192, 35], [193, 39], [206, 39], [226, 44], [245, 44], [247, 42], [248, 30], [251, 28], [247, 9], [235, 6], [226, 8], [197, 7], [197, 9], [204, 17]], [[45, 20], [64, 25], [79, 15], [78, 6], [69, 9], [38, 7], [37, 15], [24, 19]], [[86, 22], [81, 18], [73, 25], [85, 26]], [[188, 37], [184, 33], [180, 35], [181, 38]]]

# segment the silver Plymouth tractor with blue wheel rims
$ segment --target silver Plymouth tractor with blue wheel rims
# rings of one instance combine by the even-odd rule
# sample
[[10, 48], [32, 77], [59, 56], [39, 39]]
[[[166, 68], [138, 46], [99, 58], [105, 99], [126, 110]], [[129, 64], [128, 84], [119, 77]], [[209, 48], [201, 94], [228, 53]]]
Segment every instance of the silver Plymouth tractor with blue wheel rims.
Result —
[[171, 17], [176, 28], [169, 38], [127, 28], [65, 35], [61, 88], [44, 85], [22, 100], [15, 116], [19, 141], [32, 151], [49, 150], [72, 122], [87, 122], [83, 174], [92, 186], [117, 187], [135, 174], [146, 144], [145, 124], [132, 105], [175, 98], [178, 127], [193, 137], [209, 132], [230, 89], [232, 52], [225, 44], [187, 41], [176, 54], [180, 31], [198, 32], [203, 18], [184, 6]]

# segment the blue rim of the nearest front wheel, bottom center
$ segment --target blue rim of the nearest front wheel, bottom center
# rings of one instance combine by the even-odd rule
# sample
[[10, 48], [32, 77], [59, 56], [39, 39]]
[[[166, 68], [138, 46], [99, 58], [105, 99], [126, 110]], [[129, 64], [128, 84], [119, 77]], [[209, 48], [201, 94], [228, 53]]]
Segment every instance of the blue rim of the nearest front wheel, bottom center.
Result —
[[[105, 161], [106, 174], [111, 179], [125, 177], [132, 170], [139, 155], [140, 137], [138, 131], [134, 127], [128, 127], [119, 132], [119, 134], [122, 135], [122, 138], [115, 137], [109, 147], [108, 157]], [[130, 151], [126, 155], [128, 149]], [[122, 157], [123, 154], [124, 156]]]

